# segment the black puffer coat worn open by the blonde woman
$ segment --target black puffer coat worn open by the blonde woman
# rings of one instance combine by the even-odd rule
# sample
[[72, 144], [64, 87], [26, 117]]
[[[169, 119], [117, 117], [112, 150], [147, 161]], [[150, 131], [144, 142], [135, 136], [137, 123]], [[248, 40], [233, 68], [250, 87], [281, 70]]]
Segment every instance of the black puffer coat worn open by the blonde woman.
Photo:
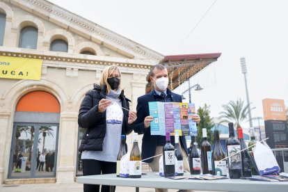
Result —
[[[78, 124], [80, 127], [87, 128], [83, 136], [79, 152], [82, 151], [102, 151], [102, 145], [106, 132], [106, 111], [99, 113], [98, 104], [103, 98], [106, 98], [106, 86], [101, 88], [94, 84], [94, 89], [89, 90], [80, 106], [78, 115]], [[120, 94], [122, 107], [129, 109], [130, 100], [127, 99], [122, 90]], [[134, 125], [128, 124], [129, 111], [123, 110], [122, 134], [130, 134]]]

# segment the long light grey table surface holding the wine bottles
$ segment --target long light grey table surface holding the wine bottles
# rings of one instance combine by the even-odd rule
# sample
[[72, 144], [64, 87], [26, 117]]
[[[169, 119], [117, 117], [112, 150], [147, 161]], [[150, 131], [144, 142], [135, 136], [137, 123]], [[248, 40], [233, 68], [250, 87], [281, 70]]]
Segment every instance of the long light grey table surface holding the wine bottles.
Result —
[[[190, 175], [189, 173], [185, 173]], [[218, 179], [218, 180], [198, 180], [198, 179], [168, 179], [147, 173], [141, 178], [122, 178], [115, 174], [90, 175], [77, 177], [77, 182], [82, 184], [104, 184], [114, 186], [134, 186], [159, 189], [194, 189], [203, 191], [288, 191], [288, 182], [260, 182], [247, 179]]]

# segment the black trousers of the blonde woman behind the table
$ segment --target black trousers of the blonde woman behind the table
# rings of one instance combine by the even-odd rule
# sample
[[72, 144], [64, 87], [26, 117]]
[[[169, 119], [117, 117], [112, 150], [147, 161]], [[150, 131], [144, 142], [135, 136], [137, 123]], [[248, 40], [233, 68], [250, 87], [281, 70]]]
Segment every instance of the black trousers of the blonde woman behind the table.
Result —
[[[116, 162], [97, 161], [93, 159], [82, 159], [82, 162], [84, 176], [116, 173]], [[83, 184], [84, 192], [99, 192], [99, 187], [100, 186], [96, 184]], [[115, 191], [115, 186], [113, 186], [113, 189], [113, 191]], [[109, 192], [109, 190], [110, 186], [101, 186], [101, 192]]]

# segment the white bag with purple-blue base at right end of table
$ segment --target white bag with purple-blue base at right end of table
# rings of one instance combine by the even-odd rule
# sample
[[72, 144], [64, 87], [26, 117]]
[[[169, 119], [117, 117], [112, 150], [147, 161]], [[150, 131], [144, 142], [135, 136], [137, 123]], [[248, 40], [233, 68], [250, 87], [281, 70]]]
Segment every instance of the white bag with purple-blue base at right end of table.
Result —
[[271, 175], [280, 171], [274, 154], [266, 143], [256, 142], [254, 159], [260, 175]]

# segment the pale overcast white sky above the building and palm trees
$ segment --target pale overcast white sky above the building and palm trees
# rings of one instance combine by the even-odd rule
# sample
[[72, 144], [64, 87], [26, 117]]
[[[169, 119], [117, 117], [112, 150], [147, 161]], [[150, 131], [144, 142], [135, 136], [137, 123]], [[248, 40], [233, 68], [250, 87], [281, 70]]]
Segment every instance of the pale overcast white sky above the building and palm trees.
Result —
[[[287, 0], [49, 1], [163, 55], [221, 53], [190, 79], [191, 86], [203, 88], [191, 90], [192, 102], [196, 108], [208, 104], [211, 117], [230, 100], [246, 102], [241, 57], [255, 107], [252, 117], [263, 117], [262, 99], [284, 99], [288, 106]], [[181, 95], [187, 88], [188, 82], [174, 92]], [[188, 93], [184, 97], [189, 102]]]

